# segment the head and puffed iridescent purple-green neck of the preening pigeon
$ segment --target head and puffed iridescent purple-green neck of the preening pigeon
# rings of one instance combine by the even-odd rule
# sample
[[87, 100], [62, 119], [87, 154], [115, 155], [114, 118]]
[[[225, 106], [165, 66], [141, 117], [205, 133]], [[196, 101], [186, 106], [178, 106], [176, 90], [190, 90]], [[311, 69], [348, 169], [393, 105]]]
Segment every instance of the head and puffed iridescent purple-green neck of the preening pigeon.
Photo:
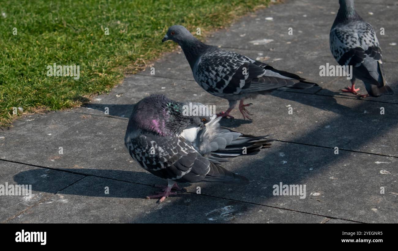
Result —
[[180, 134], [189, 126], [203, 127], [210, 120], [205, 116], [186, 116], [183, 109], [181, 102], [165, 95], [151, 95], [135, 104], [128, 127], [166, 136]]

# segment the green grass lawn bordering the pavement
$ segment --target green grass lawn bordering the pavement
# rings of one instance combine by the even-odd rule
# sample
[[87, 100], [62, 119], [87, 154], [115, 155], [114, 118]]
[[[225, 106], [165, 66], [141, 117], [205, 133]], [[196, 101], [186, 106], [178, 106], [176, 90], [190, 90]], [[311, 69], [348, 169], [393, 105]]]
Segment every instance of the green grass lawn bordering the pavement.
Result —
[[[124, 73], [135, 73], [176, 48], [175, 43], [161, 43], [171, 25], [190, 31], [200, 27], [205, 35], [268, 2], [2, 1], [0, 126], [20, 115], [13, 115], [13, 107], [22, 107], [23, 113], [70, 108], [110, 91]], [[79, 65], [80, 79], [48, 77], [47, 66], [54, 63]]]

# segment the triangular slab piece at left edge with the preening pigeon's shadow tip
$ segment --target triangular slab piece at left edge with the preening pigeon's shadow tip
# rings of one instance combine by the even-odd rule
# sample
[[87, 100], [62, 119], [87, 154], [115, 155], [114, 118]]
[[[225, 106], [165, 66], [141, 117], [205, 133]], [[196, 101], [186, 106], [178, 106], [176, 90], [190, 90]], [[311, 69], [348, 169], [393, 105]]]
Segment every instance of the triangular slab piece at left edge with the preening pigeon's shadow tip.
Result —
[[[0, 160], [0, 185], [31, 185], [31, 194], [0, 195], [0, 222], [42, 203], [84, 176]], [[45, 189], [43, 189], [45, 188]], [[19, 188], [18, 188], [19, 189]]]

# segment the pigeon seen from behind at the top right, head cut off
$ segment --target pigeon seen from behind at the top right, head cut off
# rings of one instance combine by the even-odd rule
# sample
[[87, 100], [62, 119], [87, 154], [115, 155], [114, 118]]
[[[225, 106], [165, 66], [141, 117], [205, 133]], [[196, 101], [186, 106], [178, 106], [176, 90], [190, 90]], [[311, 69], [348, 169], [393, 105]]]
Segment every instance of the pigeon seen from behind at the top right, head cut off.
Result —
[[355, 11], [353, 0], [339, 0], [340, 8], [330, 29], [330, 51], [341, 66], [352, 66], [351, 87], [341, 91], [359, 95], [355, 80], [362, 80], [368, 94], [394, 94], [383, 70], [381, 48], [375, 30]]

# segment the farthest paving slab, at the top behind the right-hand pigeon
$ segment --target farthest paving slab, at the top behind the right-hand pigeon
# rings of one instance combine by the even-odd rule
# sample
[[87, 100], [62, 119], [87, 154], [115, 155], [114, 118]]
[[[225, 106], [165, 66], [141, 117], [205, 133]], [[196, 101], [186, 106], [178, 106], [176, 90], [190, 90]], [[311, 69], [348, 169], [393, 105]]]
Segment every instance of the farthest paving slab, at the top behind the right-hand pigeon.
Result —
[[[359, 14], [375, 30], [379, 31], [380, 27], [385, 30], [384, 35], [378, 35], [384, 60], [398, 62], [396, 45], [390, 45], [398, 43], [395, 33], [398, 6], [386, 6], [382, 1], [378, 2], [380, 5], [377, 8], [373, 4], [358, 3], [355, 2], [355, 5]], [[228, 28], [228, 32], [220, 30], [212, 34], [207, 43], [226, 48], [273, 50], [281, 57], [283, 54], [331, 56], [329, 33], [338, 8], [338, 1], [300, 0], [272, 5], [243, 17]], [[270, 17], [273, 19], [265, 19]], [[289, 28], [293, 29], [293, 35], [288, 34]], [[253, 42], [262, 39], [273, 41]]]

